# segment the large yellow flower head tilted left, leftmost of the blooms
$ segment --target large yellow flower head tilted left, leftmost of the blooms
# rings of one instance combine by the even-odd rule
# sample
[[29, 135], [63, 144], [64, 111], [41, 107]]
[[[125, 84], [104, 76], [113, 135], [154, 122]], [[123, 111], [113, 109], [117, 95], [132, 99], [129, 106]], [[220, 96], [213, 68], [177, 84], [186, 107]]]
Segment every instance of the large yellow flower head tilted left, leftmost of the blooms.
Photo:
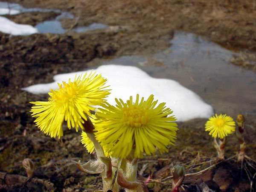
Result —
[[51, 137], [63, 136], [62, 124], [67, 121], [67, 127], [83, 127], [87, 115], [95, 110], [93, 105], [102, 105], [109, 90], [104, 87], [106, 83], [101, 75], [87, 73], [84, 76], [75, 77], [75, 80], [68, 83], [58, 84], [59, 89], [49, 92], [47, 102], [30, 102], [32, 107], [32, 117], [36, 117], [35, 123], [41, 131]]

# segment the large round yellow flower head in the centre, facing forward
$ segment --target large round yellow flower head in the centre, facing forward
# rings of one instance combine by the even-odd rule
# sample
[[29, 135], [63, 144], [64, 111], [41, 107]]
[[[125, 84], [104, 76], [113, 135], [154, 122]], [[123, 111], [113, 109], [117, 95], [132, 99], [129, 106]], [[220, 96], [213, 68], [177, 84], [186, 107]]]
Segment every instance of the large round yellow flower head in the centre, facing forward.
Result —
[[143, 157], [143, 153], [155, 154], [168, 151], [167, 145], [174, 145], [177, 124], [171, 109], [160, 103], [151, 95], [146, 101], [132, 97], [125, 103], [116, 99], [116, 107], [109, 105], [99, 109], [95, 124], [96, 139], [101, 145], [112, 152], [113, 157]]

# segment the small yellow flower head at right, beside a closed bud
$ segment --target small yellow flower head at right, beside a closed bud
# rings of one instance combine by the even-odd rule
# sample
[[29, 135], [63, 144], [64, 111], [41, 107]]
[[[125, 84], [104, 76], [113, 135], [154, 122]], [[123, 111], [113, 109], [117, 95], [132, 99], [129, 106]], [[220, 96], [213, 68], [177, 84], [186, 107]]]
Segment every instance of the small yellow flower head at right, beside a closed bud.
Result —
[[205, 124], [205, 131], [210, 131], [209, 135], [214, 138], [218, 137], [223, 139], [228, 134], [232, 134], [235, 130], [236, 123], [226, 114], [220, 114], [219, 116], [215, 114], [215, 116], [210, 117]]

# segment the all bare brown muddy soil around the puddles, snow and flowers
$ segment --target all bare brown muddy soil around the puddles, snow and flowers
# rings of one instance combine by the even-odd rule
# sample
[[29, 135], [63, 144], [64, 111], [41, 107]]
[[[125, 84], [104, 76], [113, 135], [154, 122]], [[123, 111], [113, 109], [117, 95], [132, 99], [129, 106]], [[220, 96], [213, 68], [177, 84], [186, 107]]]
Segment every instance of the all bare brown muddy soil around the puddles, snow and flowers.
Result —
[[[254, 1], [202, 1], [202, 0], [14, 0], [25, 7], [67, 10], [76, 18], [62, 20], [69, 29], [93, 22], [110, 25], [108, 29], [93, 32], [65, 34], [35, 34], [11, 36], [0, 33], [0, 188], [3, 191], [94, 191], [102, 188], [99, 175], [81, 173], [74, 161], [94, 158], [80, 143], [80, 135], [73, 130], [64, 131], [61, 140], [45, 136], [33, 124], [29, 101], [47, 100], [47, 95], [32, 95], [20, 88], [52, 81], [58, 73], [84, 70], [96, 58], [119, 55], [144, 55], [160, 52], [169, 47], [174, 30], [204, 35], [210, 40], [232, 49], [256, 50], [256, 3]], [[54, 17], [53, 13], [23, 13], [8, 16], [17, 23], [35, 25]], [[77, 22], [76, 22], [77, 21]], [[250, 57], [251, 59], [252, 57]], [[237, 60], [236, 60], [237, 61]], [[240, 60], [239, 60], [240, 61]], [[234, 61], [235, 62], [235, 61]], [[240, 62], [243, 63], [243, 62]], [[239, 64], [237, 61], [235, 64]], [[248, 67], [248, 65], [246, 66]], [[253, 67], [248, 67], [253, 69]], [[234, 116], [235, 118], [235, 116]], [[245, 114], [247, 155], [256, 159], [256, 115]], [[212, 138], [204, 132], [207, 119], [179, 123], [177, 142], [169, 153], [140, 160], [140, 179], [152, 175], [150, 191], [171, 190], [170, 169], [177, 163], [185, 166], [187, 173], [198, 172], [218, 161]], [[226, 157], [239, 150], [235, 135], [228, 138]], [[35, 179], [25, 183], [26, 173], [21, 162], [31, 158], [37, 166]], [[247, 174], [235, 163], [235, 157], [220, 164], [211, 172], [209, 186], [216, 191], [250, 191]], [[143, 165], [145, 169], [143, 168]], [[219, 168], [220, 167], [220, 168]], [[219, 182], [227, 176], [232, 179]], [[255, 172], [250, 168], [250, 172]], [[223, 171], [224, 170], [224, 171]], [[221, 174], [217, 174], [221, 172]], [[223, 174], [224, 172], [224, 174]], [[243, 172], [242, 176], [237, 176]], [[6, 176], [6, 173], [8, 175]], [[17, 175], [15, 185], [3, 178]], [[215, 174], [215, 175], [214, 175]], [[237, 177], [236, 177], [237, 176]], [[16, 177], [15, 177], [16, 178]], [[241, 180], [237, 180], [240, 178]], [[190, 178], [191, 179], [191, 178]], [[193, 178], [192, 178], [193, 179]], [[185, 181], [184, 189], [196, 191], [195, 179]], [[7, 182], [7, 183], [6, 183]], [[47, 182], [50, 182], [46, 184]], [[190, 182], [190, 183], [189, 183]], [[37, 184], [35, 184], [37, 183]], [[38, 184], [39, 183], [39, 184]], [[252, 180], [254, 190], [255, 180]], [[194, 184], [194, 186], [193, 186]], [[38, 186], [41, 186], [40, 190]], [[1, 189], [2, 190], [2, 189]], [[252, 189], [253, 190], [253, 189]]]

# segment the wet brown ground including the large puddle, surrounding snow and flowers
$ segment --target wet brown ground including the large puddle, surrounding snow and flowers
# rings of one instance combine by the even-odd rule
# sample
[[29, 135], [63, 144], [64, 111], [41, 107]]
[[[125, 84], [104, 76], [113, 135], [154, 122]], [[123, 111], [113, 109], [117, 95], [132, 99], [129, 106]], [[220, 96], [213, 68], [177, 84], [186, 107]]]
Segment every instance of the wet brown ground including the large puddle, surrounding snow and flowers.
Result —
[[[134, 65], [151, 76], [179, 81], [210, 103], [217, 113], [228, 113], [234, 118], [243, 113], [247, 155], [256, 158], [254, 1], [229, 2], [228, 5], [228, 1], [217, 0], [208, 3], [200, 0], [14, 2], [26, 9], [54, 10], [7, 15], [9, 19], [33, 26], [57, 20], [64, 33], [41, 31], [30, 36], [0, 33], [1, 172], [25, 176], [21, 162], [29, 157], [37, 165], [35, 178], [52, 183], [53, 186], [43, 184], [48, 191], [100, 188], [98, 175], [81, 173], [72, 161], [93, 158], [80, 144], [79, 134], [66, 130], [64, 137], [56, 141], [38, 131], [30, 117], [29, 101], [46, 100], [47, 95], [32, 95], [20, 88], [51, 82], [52, 76], [58, 73], [113, 63]], [[61, 12], [55, 10], [69, 12], [73, 17], [59, 18]], [[93, 23], [108, 27], [72, 31]], [[177, 143], [169, 153], [140, 161], [140, 170], [145, 165], [140, 179], [153, 174], [155, 181], [148, 185], [151, 191], [170, 191], [170, 181], [164, 182], [163, 178], [176, 163], [183, 163], [188, 173], [215, 163], [210, 161], [215, 157], [215, 150], [212, 139], [204, 132], [206, 120], [180, 122]], [[235, 136], [230, 136], [226, 157], [232, 157], [238, 149]], [[161, 174], [164, 176], [159, 176]], [[221, 176], [215, 176], [216, 191], [250, 191], [246, 176], [241, 177], [245, 184], [240, 186], [235, 185], [235, 179], [224, 183], [226, 185], [219, 183], [216, 177]], [[255, 181], [252, 183], [254, 187]], [[224, 186], [227, 186], [225, 190]], [[32, 186], [26, 187], [29, 186], [12, 186], [8, 191], [32, 189]]]

